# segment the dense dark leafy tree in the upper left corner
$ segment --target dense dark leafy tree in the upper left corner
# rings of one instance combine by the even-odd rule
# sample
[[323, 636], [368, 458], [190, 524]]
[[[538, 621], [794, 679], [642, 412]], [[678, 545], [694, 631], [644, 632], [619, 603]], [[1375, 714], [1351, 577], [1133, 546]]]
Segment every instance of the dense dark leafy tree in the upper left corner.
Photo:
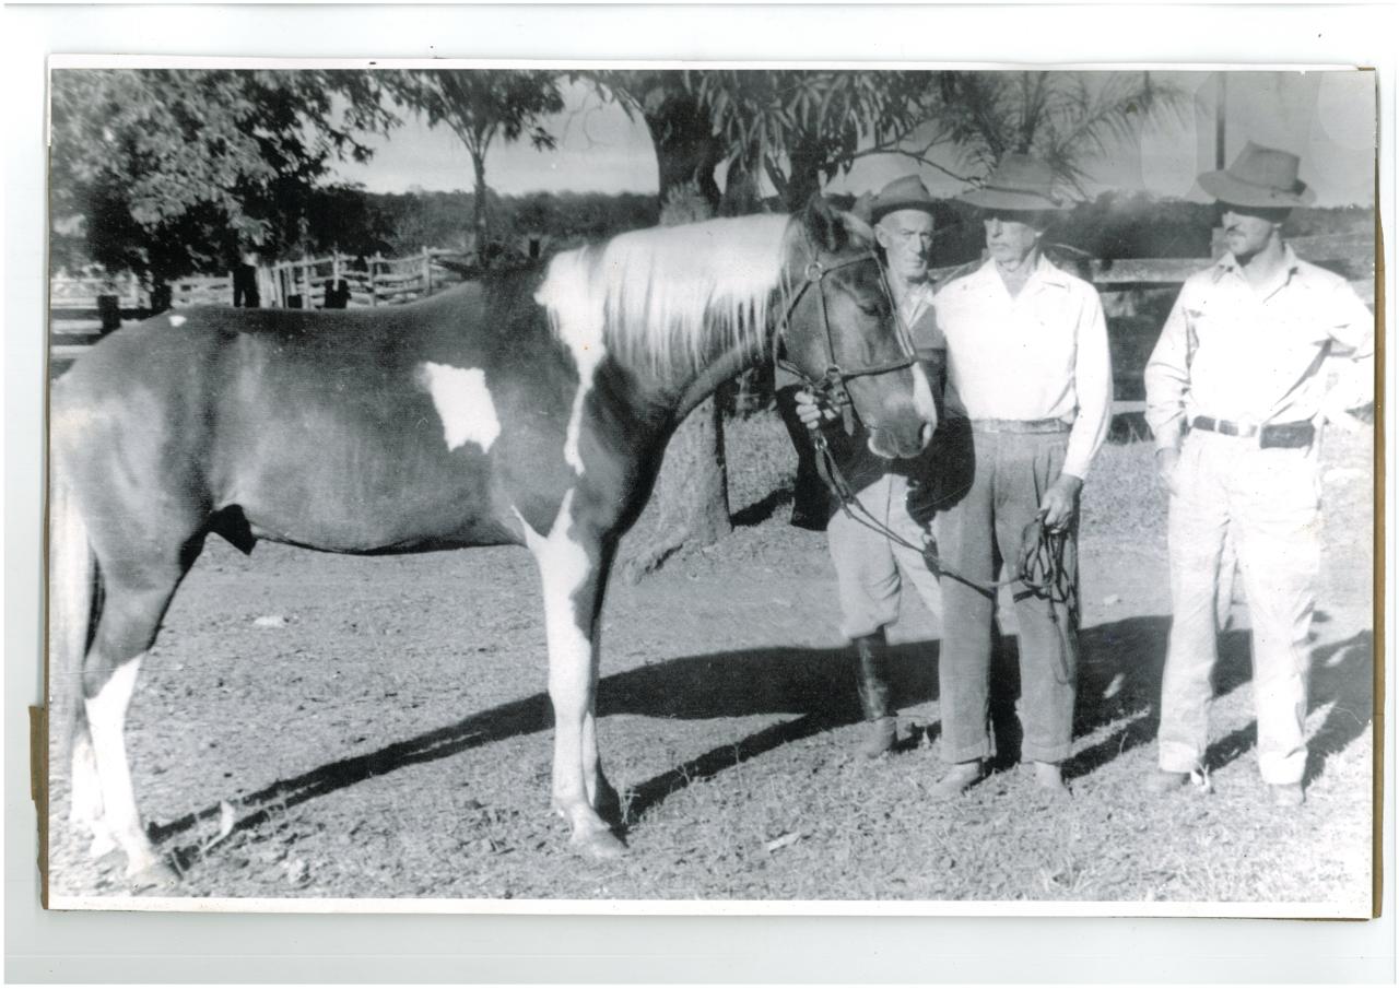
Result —
[[361, 71], [63, 69], [52, 88], [52, 215], [157, 284], [301, 243], [330, 164], [396, 123]]

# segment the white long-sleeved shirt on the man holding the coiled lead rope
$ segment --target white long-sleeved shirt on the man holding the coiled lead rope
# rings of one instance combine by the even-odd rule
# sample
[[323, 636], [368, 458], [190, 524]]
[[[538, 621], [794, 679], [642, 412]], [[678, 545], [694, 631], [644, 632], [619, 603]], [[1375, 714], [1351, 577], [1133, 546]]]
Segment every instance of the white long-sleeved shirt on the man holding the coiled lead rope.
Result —
[[947, 410], [972, 420], [1072, 424], [1063, 473], [1086, 477], [1112, 417], [1112, 360], [1098, 291], [1041, 256], [1011, 295], [988, 260], [936, 297]]

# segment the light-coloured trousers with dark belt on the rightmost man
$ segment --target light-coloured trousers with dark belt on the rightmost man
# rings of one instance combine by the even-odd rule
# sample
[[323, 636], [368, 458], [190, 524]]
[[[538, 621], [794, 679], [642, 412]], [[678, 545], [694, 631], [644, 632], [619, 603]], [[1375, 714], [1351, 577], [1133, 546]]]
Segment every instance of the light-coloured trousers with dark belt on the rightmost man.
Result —
[[1307, 767], [1307, 635], [1321, 571], [1315, 446], [1260, 449], [1256, 438], [1192, 431], [1170, 515], [1171, 642], [1161, 678], [1158, 758], [1189, 772], [1209, 743], [1217, 660], [1216, 595], [1226, 537], [1254, 627], [1258, 765], [1265, 782], [1301, 782]]

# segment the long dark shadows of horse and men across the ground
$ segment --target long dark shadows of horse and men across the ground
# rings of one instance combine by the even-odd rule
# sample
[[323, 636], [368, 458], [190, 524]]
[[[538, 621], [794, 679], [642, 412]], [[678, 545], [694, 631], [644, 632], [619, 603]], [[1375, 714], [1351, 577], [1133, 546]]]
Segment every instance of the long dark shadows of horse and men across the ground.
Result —
[[[1123, 753], [1156, 737], [1160, 722], [1161, 666], [1170, 618], [1144, 616], [1086, 628], [1080, 634], [1079, 705], [1074, 737], [1115, 725], [1102, 740], [1079, 751], [1065, 767], [1070, 779], [1086, 776]], [[1014, 698], [1018, 673], [1014, 638], [997, 643], [992, 671], [992, 722], [996, 739], [995, 767], [1016, 762], [1020, 753]], [[1216, 695], [1244, 684], [1249, 673], [1248, 634], [1220, 636]], [[909, 708], [937, 697], [937, 643], [914, 642], [890, 649], [888, 674], [893, 699]], [[1312, 708], [1335, 701], [1325, 725], [1311, 744], [1308, 781], [1326, 755], [1340, 751], [1370, 723], [1372, 713], [1372, 636], [1368, 631], [1314, 652]], [[767, 646], [698, 656], [683, 656], [604, 677], [597, 691], [597, 713], [651, 718], [715, 719], [753, 715], [789, 715], [775, 725], [702, 753], [652, 779], [627, 786], [627, 820], [697, 779], [730, 769], [747, 760], [803, 737], [859, 720], [853, 662], [845, 649]], [[250, 831], [306, 800], [326, 796], [372, 776], [410, 765], [432, 762], [504, 739], [550, 729], [553, 718], [544, 694], [471, 715], [453, 725], [396, 741], [378, 751], [327, 762], [245, 796], [245, 811], [235, 831]], [[936, 726], [921, 729], [936, 737]], [[1210, 746], [1206, 755], [1219, 768], [1244, 755], [1255, 744], [1255, 725], [1241, 727]], [[902, 748], [921, 737], [907, 737]], [[186, 835], [200, 821], [218, 820], [220, 807], [208, 807], [154, 825], [157, 842]], [[207, 842], [185, 838], [173, 858], [182, 867], [207, 851]]]

